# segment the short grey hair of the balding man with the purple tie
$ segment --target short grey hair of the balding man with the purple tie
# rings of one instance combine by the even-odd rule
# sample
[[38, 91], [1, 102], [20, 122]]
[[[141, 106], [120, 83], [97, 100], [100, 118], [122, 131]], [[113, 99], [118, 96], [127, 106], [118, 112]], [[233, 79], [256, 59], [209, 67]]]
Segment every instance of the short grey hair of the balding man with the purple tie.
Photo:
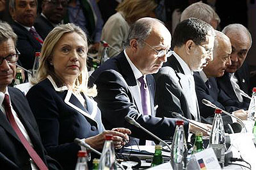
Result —
[[[160, 20], [157, 20], [156, 18], [150, 18], [150, 19], [140, 19], [134, 22], [134, 24], [131, 25], [128, 33], [127, 40], [124, 43], [124, 47], [127, 48], [130, 45], [130, 41], [132, 39], [138, 39], [138, 40], [145, 40], [150, 35], [150, 32], [152, 31], [152, 28], [154, 26], [154, 22], [161, 22]], [[138, 41], [139, 46], [143, 46], [144, 43], [141, 43], [141, 41]]]

